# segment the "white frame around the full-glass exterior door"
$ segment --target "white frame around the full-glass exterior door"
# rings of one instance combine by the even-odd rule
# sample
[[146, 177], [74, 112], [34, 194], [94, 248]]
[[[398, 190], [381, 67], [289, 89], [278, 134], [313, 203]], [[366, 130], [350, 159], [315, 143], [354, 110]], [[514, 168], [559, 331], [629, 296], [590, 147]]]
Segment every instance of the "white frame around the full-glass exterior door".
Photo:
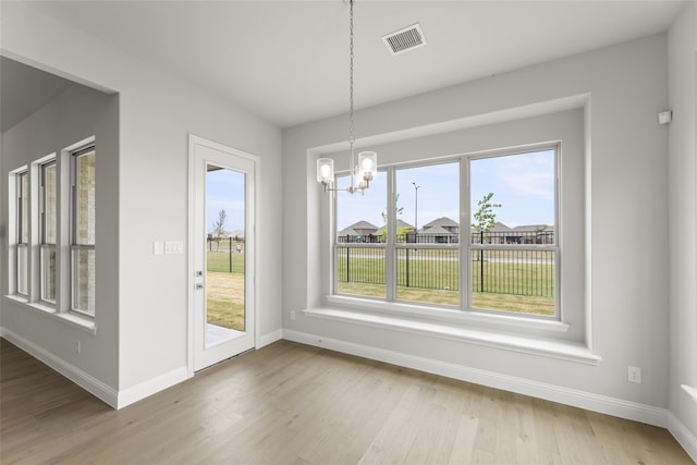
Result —
[[248, 154], [242, 150], [237, 150], [232, 147], [228, 147], [225, 145], [196, 136], [194, 134], [188, 135], [188, 256], [187, 256], [187, 299], [188, 299], [188, 315], [187, 315], [187, 371], [188, 377], [193, 377], [195, 374], [195, 346], [196, 343], [196, 334], [195, 334], [195, 298], [196, 298], [196, 270], [195, 270], [195, 249], [198, 246], [195, 244], [195, 150], [196, 146], [203, 146], [207, 148], [211, 148], [218, 151], [222, 151], [224, 154], [229, 154], [231, 156], [241, 157], [247, 160], [250, 160], [254, 163], [254, 185], [252, 195], [254, 196], [253, 209], [249, 210], [249, 224], [245, 225], [245, 248], [247, 250], [246, 256], [250, 256], [250, 259], [246, 261], [247, 267], [245, 268], [245, 280], [252, 286], [252, 292], [247, 293], [245, 296], [245, 306], [249, 306], [253, 308], [253, 325], [254, 325], [254, 346], [258, 347], [259, 344], [259, 311], [256, 308], [256, 303], [258, 299], [258, 289], [256, 285], [256, 270], [257, 270], [257, 261], [258, 261], [258, 252], [256, 247], [256, 231], [257, 231], [257, 219], [258, 216], [258, 191], [260, 184], [260, 158], [256, 155]]

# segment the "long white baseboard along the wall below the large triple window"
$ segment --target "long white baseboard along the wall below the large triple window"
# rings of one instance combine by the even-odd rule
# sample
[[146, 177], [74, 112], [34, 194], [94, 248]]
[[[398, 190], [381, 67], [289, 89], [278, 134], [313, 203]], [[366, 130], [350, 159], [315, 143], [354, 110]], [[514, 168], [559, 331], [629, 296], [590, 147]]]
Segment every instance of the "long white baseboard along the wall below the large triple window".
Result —
[[504, 391], [530, 395], [533, 397], [543, 399], [547, 401], [559, 402], [662, 428], [668, 427], [669, 424], [669, 412], [665, 408], [653, 407], [622, 399], [609, 397], [606, 395], [531, 381], [524, 378], [501, 375], [493, 371], [470, 368], [432, 358], [402, 354], [399, 352], [387, 351], [384, 348], [377, 348], [286, 329], [283, 330], [283, 339], [374, 360], [386, 362], [462, 381], [474, 382], [476, 384], [487, 386], [490, 388], [502, 389]]

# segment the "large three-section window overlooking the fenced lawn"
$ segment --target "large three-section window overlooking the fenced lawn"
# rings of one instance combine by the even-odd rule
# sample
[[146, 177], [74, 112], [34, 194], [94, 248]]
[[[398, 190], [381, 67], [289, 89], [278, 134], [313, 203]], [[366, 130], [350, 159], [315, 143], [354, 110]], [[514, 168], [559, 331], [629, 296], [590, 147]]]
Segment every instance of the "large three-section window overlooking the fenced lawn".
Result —
[[559, 151], [382, 167], [365, 196], [335, 193], [333, 294], [559, 318]]

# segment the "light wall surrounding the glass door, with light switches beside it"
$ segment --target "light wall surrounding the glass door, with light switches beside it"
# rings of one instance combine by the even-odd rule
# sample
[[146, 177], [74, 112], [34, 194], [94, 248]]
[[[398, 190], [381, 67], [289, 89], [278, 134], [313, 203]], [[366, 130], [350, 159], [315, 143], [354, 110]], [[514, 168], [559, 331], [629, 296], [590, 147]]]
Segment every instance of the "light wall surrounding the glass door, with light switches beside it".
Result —
[[[187, 254], [154, 256], [152, 242], [187, 241], [188, 134], [261, 157], [257, 285], [277, 290], [281, 131], [30, 7], [1, 7], [3, 54], [119, 93], [119, 210], [111, 232], [119, 257], [112, 268], [119, 283], [119, 343], [112, 347], [119, 374], [109, 382], [137, 399], [181, 380], [187, 364]], [[280, 336], [280, 293], [260, 293], [258, 327], [266, 342]], [[95, 372], [97, 365], [84, 369]]]

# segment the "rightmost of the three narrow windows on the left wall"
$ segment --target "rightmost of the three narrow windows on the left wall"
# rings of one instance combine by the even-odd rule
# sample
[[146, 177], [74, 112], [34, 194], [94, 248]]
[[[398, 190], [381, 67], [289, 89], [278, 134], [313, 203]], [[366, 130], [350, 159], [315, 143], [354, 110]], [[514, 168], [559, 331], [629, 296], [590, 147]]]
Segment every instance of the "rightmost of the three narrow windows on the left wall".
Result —
[[95, 146], [71, 154], [71, 309], [95, 315]]

